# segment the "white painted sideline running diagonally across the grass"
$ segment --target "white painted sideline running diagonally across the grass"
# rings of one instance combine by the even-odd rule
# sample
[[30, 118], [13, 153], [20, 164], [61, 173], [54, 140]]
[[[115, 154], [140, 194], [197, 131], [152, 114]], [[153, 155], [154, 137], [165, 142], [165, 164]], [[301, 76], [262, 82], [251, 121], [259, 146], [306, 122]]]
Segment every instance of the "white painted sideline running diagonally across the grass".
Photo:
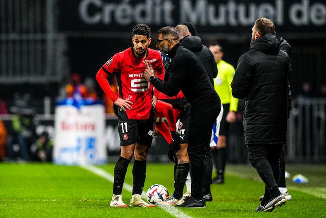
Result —
[[[82, 165], [80, 166], [86, 170], [89, 170], [93, 173], [95, 173], [96, 175], [101, 176], [102, 178], [110, 181], [113, 183], [114, 181], [114, 176], [112, 176], [110, 173], [106, 172], [105, 170], [102, 170], [98, 167], [92, 166], [92, 165]], [[127, 184], [127, 183], [123, 183], [123, 188], [126, 189], [129, 192], [132, 192], [132, 186]], [[143, 199], [146, 199], [146, 193], [143, 191], [141, 193], [141, 197]], [[157, 205], [156, 205], [157, 206]], [[189, 216], [187, 214], [185, 214], [184, 212], [182, 212], [181, 210], [179, 210], [178, 208], [174, 207], [174, 206], [169, 206], [169, 205], [158, 205], [160, 208], [164, 209], [165, 211], [167, 211], [168, 213], [170, 213], [171, 215], [175, 216], [175, 217], [180, 217], [180, 218], [192, 218], [192, 216]]]

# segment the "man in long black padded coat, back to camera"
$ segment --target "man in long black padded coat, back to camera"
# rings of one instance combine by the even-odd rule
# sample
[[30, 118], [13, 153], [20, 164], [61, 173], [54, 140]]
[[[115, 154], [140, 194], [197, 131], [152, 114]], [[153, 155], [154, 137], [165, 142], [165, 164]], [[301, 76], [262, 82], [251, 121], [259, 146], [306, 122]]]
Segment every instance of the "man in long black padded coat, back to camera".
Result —
[[266, 18], [252, 28], [250, 50], [243, 54], [231, 83], [236, 98], [246, 98], [243, 116], [249, 160], [265, 183], [257, 211], [271, 211], [286, 202], [276, 184], [279, 156], [286, 143], [289, 56], [279, 49], [275, 27]]

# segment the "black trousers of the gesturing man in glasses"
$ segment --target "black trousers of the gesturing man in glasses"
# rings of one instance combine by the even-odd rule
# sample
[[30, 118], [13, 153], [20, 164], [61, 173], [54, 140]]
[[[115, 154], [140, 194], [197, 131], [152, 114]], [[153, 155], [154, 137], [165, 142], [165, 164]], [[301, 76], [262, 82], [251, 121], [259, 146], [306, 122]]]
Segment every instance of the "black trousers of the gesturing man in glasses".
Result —
[[203, 198], [205, 153], [209, 148], [213, 124], [221, 110], [221, 105], [210, 110], [193, 110], [190, 116], [188, 154], [190, 160], [191, 193], [195, 200]]

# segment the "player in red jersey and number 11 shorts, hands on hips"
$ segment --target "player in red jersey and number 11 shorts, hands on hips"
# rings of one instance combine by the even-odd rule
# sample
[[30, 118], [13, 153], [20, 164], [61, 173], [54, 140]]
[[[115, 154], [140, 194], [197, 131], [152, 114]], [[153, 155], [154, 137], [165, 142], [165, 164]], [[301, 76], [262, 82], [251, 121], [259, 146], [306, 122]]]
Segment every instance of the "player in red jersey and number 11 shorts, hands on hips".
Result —
[[[149, 49], [150, 29], [145, 24], [138, 24], [132, 29], [133, 47], [116, 53], [99, 69], [96, 80], [118, 110], [118, 132], [120, 135], [121, 154], [114, 167], [113, 196], [110, 206], [126, 207], [122, 201], [122, 187], [131, 158], [133, 186], [130, 206], [151, 207], [141, 199], [141, 192], [146, 177], [146, 159], [151, 146], [154, 114], [152, 105], [156, 104], [158, 92], [143, 78], [144, 60], [151, 64], [158, 78], [164, 77], [164, 67], [160, 53]], [[109, 74], [115, 73], [118, 81], [119, 96], [111, 89], [107, 81]]]

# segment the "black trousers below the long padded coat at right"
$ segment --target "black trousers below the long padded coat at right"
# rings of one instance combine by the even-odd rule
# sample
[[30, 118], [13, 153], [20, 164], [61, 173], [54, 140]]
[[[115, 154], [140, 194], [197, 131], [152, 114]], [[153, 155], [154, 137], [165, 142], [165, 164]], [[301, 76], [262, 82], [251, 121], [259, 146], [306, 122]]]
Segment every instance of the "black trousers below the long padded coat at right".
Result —
[[248, 144], [249, 161], [268, 190], [277, 187], [282, 144]]

